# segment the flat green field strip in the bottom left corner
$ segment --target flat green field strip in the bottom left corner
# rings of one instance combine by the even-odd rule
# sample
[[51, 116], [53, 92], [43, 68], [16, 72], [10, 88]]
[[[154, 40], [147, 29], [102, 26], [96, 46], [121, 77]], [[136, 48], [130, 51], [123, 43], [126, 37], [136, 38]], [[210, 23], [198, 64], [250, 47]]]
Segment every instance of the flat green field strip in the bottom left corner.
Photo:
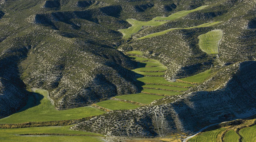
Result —
[[[28, 127], [19, 129], [0, 129], [1, 142], [103, 142], [100, 138], [102, 135], [74, 131], [69, 129], [70, 126], [63, 127]], [[35, 135], [35, 136], [18, 136], [20, 134], [76, 134], [76, 136], [61, 135]]]

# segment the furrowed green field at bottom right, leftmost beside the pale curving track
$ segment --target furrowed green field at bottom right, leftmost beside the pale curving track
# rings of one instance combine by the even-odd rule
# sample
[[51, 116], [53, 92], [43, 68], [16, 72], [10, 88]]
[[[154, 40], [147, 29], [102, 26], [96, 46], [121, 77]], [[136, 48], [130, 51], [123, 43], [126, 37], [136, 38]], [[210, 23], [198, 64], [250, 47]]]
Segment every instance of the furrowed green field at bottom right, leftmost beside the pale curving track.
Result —
[[221, 134], [221, 132], [224, 131], [225, 129], [226, 128], [219, 128], [212, 131], [206, 131], [204, 133], [196, 135], [193, 138], [190, 138], [188, 142], [217, 142], [217, 139], [220, 138], [218, 137], [218, 135]]

